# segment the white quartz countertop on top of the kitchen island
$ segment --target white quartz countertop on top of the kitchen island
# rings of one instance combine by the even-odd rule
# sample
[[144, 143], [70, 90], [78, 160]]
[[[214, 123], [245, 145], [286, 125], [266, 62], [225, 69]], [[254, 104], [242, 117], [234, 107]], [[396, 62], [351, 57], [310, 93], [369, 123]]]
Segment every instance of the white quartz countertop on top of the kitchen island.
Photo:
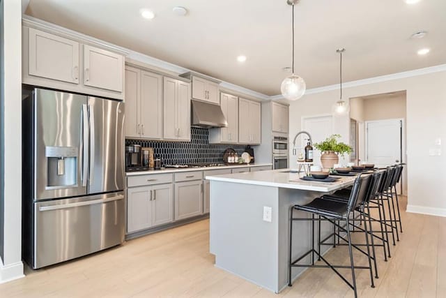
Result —
[[245, 172], [224, 174], [218, 176], [206, 176], [210, 181], [224, 181], [239, 184], [252, 184], [261, 186], [273, 186], [278, 188], [293, 188], [305, 191], [320, 191], [330, 192], [339, 188], [344, 188], [353, 184], [355, 177], [339, 177], [340, 179], [334, 182], [319, 182], [319, 181], [305, 181], [300, 179], [304, 173], [297, 173], [297, 170], [280, 169], [259, 172]]

